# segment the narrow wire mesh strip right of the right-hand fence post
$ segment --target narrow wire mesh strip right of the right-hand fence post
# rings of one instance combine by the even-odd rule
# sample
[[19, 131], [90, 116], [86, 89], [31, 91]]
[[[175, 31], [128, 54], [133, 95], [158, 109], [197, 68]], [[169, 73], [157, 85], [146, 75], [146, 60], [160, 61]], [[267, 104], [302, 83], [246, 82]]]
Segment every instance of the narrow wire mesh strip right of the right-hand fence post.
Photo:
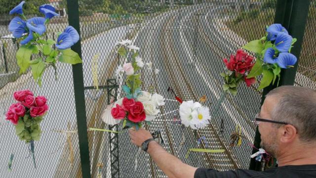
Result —
[[295, 85], [316, 89], [316, 0], [311, 0]]

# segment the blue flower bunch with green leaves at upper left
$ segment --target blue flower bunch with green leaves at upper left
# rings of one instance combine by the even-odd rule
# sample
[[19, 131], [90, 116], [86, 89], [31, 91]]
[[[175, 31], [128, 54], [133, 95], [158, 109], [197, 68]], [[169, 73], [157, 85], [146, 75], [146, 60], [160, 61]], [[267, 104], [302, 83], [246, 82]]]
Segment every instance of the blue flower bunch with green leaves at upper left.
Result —
[[16, 52], [17, 64], [20, 67], [19, 74], [23, 74], [31, 67], [34, 80], [41, 86], [41, 77], [45, 69], [52, 66], [57, 79], [56, 63], [69, 64], [82, 63], [79, 54], [70, 47], [79, 41], [79, 34], [72, 26], [65, 28], [64, 32], [57, 33], [57, 42], [46, 39], [46, 26], [54, 16], [59, 16], [55, 8], [49, 4], [43, 4], [39, 10], [45, 17], [33, 17], [27, 19], [23, 13], [22, 1], [10, 11], [18, 14], [9, 23], [9, 31], [18, 39], [21, 47]]

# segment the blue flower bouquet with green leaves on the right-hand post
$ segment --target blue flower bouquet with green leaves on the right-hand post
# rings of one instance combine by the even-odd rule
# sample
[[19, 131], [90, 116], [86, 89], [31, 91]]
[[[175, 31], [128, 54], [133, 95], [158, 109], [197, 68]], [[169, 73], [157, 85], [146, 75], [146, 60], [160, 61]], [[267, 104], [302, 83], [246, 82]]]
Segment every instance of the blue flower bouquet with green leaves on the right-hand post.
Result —
[[[243, 48], [256, 54], [256, 63], [247, 76], [251, 79], [263, 74], [258, 90], [274, 85], [280, 80], [281, 68], [293, 67], [297, 58], [291, 54], [292, 45], [296, 42], [281, 24], [267, 27], [266, 36], [244, 45]], [[278, 85], [278, 82], [277, 82]]]

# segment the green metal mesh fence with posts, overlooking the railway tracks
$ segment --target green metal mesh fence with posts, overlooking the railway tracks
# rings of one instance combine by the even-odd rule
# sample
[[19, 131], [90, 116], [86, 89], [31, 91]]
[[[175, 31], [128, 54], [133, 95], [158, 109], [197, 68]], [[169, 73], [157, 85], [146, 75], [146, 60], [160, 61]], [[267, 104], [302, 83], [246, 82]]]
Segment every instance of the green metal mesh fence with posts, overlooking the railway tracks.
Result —
[[[27, 0], [28, 4], [35, 2]], [[41, 139], [36, 142], [37, 169], [29, 157], [28, 145], [18, 140], [14, 127], [5, 121], [0, 123], [0, 176], [3, 178], [95, 178], [100, 173], [102, 178], [166, 177], [145, 152], [137, 156], [138, 167], [134, 169], [137, 148], [127, 133], [87, 131], [89, 127], [121, 129], [120, 124], [103, 123], [101, 114], [111, 98], [123, 96], [122, 79], [114, 73], [125, 62], [118, 56], [115, 43], [124, 39], [140, 47], [140, 56], [145, 63], [153, 63], [153, 70], [159, 69], [158, 74], [142, 69], [142, 89], [154, 89], [167, 98], [161, 113], [147, 129], [159, 130], [165, 138], [162, 146], [192, 166], [221, 171], [248, 169], [250, 163], [251, 169], [264, 166], [250, 161], [252, 147], [248, 143], [255, 142], [258, 146], [260, 142], [258, 134], [255, 138], [252, 119], [260, 110], [262, 94], [275, 86], [264, 91], [256, 91], [258, 85], [240, 86], [237, 96], [224, 98], [211, 125], [197, 132], [174, 122], [180, 119], [179, 104], [167, 89], [172, 87], [183, 100], [198, 101], [205, 95], [204, 104], [212, 112], [222, 92], [223, 81], [219, 76], [225, 69], [222, 59], [263, 36], [266, 25], [281, 23], [298, 38], [293, 53], [300, 56], [300, 62], [291, 71], [283, 71], [281, 85], [293, 84], [295, 78], [295, 85], [316, 89], [316, 0], [311, 3], [299, 0], [50, 0], [50, 3], [64, 16], [52, 19], [48, 38], [56, 38], [55, 32], [68, 24], [74, 26], [81, 41], [72, 49], [80, 54], [83, 63], [72, 67], [59, 64], [57, 81], [53, 69], [48, 68], [41, 88], [30, 72], [18, 76], [15, 52], [19, 45], [7, 31], [12, 16], [7, 15], [10, 9], [1, 11], [0, 110], [5, 112], [13, 102], [12, 93], [18, 89], [31, 89], [35, 94], [47, 96], [50, 106], [41, 124]], [[9, 1], [6, 4], [12, 5]], [[306, 8], [306, 12], [300, 12], [299, 8]], [[91, 60], [96, 55], [99, 56], [99, 89], [92, 85]], [[232, 146], [230, 136], [237, 125], [241, 126], [245, 138], [241, 146]], [[200, 146], [197, 140], [202, 136], [207, 141], [204, 147], [225, 149], [225, 152], [191, 153], [185, 158], [189, 148]], [[15, 157], [12, 171], [8, 172], [11, 153]]]

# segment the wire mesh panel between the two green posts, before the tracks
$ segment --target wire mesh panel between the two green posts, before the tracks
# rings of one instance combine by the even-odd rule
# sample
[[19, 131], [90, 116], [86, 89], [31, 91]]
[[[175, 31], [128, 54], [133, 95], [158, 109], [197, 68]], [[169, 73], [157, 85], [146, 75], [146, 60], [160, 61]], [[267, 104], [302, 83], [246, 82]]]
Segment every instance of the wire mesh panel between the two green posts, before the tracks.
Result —
[[[247, 88], [241, 85], [236, 97], [227, 95], [218, 114], [212, 118], [211, 126], [198, 132], [183, 128], [174, 122], [175, 117], [177, 122], [180, 119], [177, 111], [179, 103], [167, 89], [172, 87], [183, 100], [198, 101], [199, 97], [206, 95], [207, 101], [204, 105], [210, 107], [213, 112], [222, 93], [223, 79], [219, 76], [225, 70], [222, 59], [235, 53], [237, 48], [250, 40], [258, 39], [265, 34], [265, 26], [273, 23], [276, 1], [261, 0], [256, 3], [245, 1], [242, 5], [237, 5], [230, 0], [197, 1], [196, 4], [192, 1], [181, 3], [175, 0], [173, 2], [170, 4], [170, 1], [166, 1], [164, 5], [161, 5], [160, 1], [150, 1], [145, 5], [141, 2], [133, 4], [131, 1], [119, 1], [118, 3], [125, 11], [113, 12], [114, 15], [109, 16], [111, 23], [118, 26], [111, 26], [111, 30], [87, 40], [87, 43], [91, 42], [91, 45], [86, 45], [87, 48], [82, 47], [82, 56], [86, 58], [83, 61], [88, 63], [93, 55], [100, 54], [98, 76], [99, 81], [102, 81], [100, 85], [104, 85], [105, 79], [115, 78], [115, 69], [125, 62], [125, 59], [118, 57], [116, 52], [118, 47], [114, 47], [114, 43], [127, 38], [132, 40], [134, 45], [140, 47], [140, 56], [144, 63], [153, 63], [152, 70], [143, 68], [141, 71], [142, 89], [154, 88], [156, 92], [168, 99], [165, 106], [161, 108], [161, 114], [148, 127], [151, 132], [157, 130], [162, 132], [166, 140], [162, 146], [192, 166], [218, 170], [247, 169], [252, 150], [248, 143], [253, 142], [255, 134], [255, 127], [251, 120], [260, 109], [261, 93], [255, 90], [257, 86]], [[96, 12], [105, 11], [104, 8], [98, 8], [97, 4], [94, 6]], [[126, 15], [126, 13], [131, 15]], [[80, 15], [83, 14], [80, 12]], [[101, 21], [101, 18], [105, 18], [102, 16], [104, 16], [102, 13], [90, 16], [89, 21]], [[250, 20], [251, 22], [256, 20], [261, 28], [245, 26]], [[82, 26], [80, 28], [82, 29]], [[89, 71], [91, 68], [91, 64], [83, 66], [84, 71]], [[159, 69], [158, 75], [155, 74], [155, 69]], [[92, 77], [86, 79], [85, 86], [91, 86]], [[118, 85], [121, 85], [121, 81], [123, 79], [118, 79]], [[118, 92], [118, 99], [124, 96], [121, 90]], [[104, 95], [102, 101], [99, 101], [101, 110], [98, 106], [96, 111], [96, 102], [86, 101], [87, 110], [91, 110], [87, 113], [98, 113], [96, 120], [91, 118], [93, 124], [88, 122], [88, 127], [94, 125], [109, 128], [100, 119], [106, 107], [106, 93]], [[91, 116], [95, 117], [93, 114]], [[220, 132], [221, 120], [224, 122], [223, 132]], [[245, 135], [240, 147], [230, 146], [230, 135], [235, 132], [236, 125], [242, 127], [242, 134]], [[119, 124], [118, 129], [120, 130], [121, 127]], [[88, 135], [90, 161], [93, 160], [91, 161], [92, 177], [97, 174], [97, 163], [105, 165], [102, 176], [111, 177], [109, 134], [102, 133], [102, 136], [98, 137], [99, 140], [94, 142], [91, 140], [93, 137], [96, 139], [98, 134], [89, 132]], [[183, 135], [185, 143], [181, 145]], [[205, 148], [226, 149], [226, 152], [216, 154], [192, 152], [188, 158], [185, 158], [189, 148], [198, 147], [197, 140], [202, 136], [207, 139]], [[138, 155], [138, 167], [135, 171], [138, 148], [131, 144], [127, 133], [118, 134], [118, 138], [119, 177], [166, 177], [144, 152]], [[100, 145], [100, 148], [96, 145]], [[112, 176], [118, 177], [118, 174]]]

